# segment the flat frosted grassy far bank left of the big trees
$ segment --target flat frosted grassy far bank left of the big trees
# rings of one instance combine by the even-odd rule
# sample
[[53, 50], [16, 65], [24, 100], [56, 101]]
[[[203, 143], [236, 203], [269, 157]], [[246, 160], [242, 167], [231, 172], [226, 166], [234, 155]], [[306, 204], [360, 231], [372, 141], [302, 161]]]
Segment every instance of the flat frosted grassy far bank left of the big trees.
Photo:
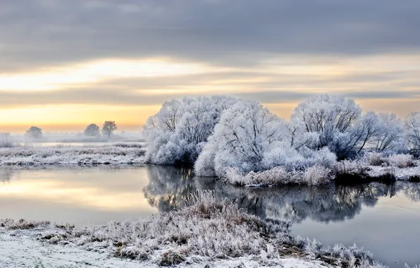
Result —
[[10, 147], [0, 148], [0, 166], [141, 164], [141, 145]]

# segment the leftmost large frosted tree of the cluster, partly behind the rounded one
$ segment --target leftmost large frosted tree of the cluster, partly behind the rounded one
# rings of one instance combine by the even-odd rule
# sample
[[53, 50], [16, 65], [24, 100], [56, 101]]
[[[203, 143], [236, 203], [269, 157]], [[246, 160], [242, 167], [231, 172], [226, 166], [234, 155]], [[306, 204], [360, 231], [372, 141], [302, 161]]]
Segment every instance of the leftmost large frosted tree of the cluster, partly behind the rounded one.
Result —
[[194, 164], [223, 111], [237, 102], [226, 96], [185, 97], [163, 103], [144, 126], [147, 162]]

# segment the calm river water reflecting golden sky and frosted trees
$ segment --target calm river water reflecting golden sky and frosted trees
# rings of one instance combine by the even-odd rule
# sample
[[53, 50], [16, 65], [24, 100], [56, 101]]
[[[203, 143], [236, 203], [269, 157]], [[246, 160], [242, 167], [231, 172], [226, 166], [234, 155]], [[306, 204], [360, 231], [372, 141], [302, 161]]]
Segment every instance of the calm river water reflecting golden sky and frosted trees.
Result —
[[235, 188], [168, 166], [0, 169], [0, 217], [78, 226], [139, 219], [215, 190], [259, 217], [292, 221], [293, 233], [371, 250], [390, 267], [420, 264], [420, 184]]

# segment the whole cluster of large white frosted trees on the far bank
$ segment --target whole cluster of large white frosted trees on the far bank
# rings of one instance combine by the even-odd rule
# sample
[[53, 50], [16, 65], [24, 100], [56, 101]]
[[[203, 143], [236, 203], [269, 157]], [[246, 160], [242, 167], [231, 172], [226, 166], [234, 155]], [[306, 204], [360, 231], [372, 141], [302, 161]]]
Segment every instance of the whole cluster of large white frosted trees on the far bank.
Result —
[[201, 176], [276, 166], [331, 167], [336, 159], [375, 152], [420, 151], [420, 113], [362, 112], [352, 99], [317, 95], [283, 121], [261, 104], [226, 96], [173, 99], [144, 126], [147, 161], [194, 164]]

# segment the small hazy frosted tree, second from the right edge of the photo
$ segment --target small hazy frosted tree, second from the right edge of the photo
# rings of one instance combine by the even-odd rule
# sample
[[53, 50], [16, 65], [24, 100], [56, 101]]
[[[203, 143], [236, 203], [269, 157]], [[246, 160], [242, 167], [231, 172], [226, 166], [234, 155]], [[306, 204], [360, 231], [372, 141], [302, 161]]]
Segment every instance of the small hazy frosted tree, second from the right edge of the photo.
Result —
[[404, 125], [396, 114], [379, 114], [378, 134], [373, 138], [373, 145], [376, 152], [387, 152], [403, 144], [402, 133]]

